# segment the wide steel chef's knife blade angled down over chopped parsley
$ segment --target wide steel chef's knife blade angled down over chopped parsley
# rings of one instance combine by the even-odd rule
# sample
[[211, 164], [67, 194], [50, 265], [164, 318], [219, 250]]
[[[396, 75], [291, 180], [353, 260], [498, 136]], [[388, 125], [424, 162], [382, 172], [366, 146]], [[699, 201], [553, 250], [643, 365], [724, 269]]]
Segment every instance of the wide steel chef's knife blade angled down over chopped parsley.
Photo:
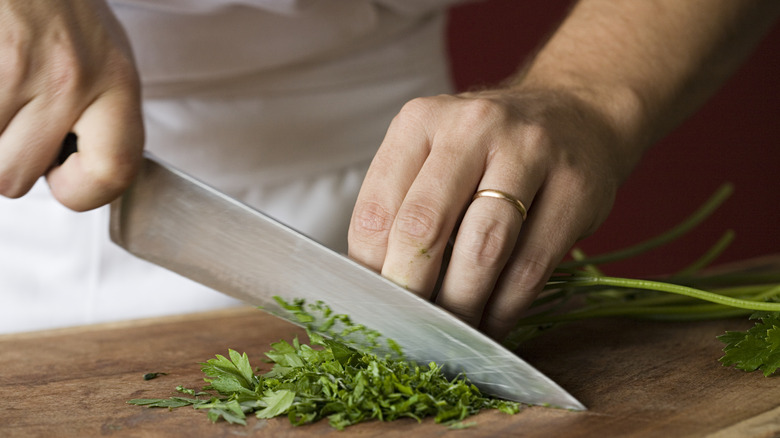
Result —
[[322, 301], [376, 330], [420, 364], [528, 404], [585, 407], [547, 376], [434, 304], [147, 154], [111, 204], [111, 239], [130, 253], [276, 316]]

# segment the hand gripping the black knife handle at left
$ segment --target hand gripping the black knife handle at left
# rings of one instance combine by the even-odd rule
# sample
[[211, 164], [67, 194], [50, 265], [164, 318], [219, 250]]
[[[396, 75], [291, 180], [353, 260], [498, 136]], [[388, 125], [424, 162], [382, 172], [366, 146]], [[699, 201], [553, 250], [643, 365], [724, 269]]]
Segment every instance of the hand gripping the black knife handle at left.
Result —
[[[0, 2], [0, 194], [21, 197], [45, 175], [72, 210], [119, 196], [141, 163], [140, 94], [104, 0]], [[54, 166], [68, 132], [78, 152]]]

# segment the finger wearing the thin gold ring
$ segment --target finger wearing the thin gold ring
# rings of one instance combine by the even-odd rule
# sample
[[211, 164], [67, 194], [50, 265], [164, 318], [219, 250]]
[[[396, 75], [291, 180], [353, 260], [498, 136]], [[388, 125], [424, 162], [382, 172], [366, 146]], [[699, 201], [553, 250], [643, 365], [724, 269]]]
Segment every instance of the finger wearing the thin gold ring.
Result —
[[[543, 179], [540, 168], [521, 162], [508, 148], [503, 150], [493, 154], [478, 190], [507, 192], [529, 208]], [[523, 217], [511, 202], [474, 199], [458, 229], [437, 303], [467, 323], [478, 325], [522, 226]]]

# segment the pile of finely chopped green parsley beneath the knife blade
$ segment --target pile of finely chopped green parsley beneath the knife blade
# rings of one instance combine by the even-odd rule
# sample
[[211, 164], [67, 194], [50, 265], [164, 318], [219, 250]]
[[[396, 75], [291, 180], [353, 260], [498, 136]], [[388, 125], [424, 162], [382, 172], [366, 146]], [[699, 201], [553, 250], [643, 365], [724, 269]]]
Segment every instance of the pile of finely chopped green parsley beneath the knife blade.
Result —
[[[302, 300], [277, 301], [298, 320], [306, 324], [315, 321]], [[329, 335], [339, 339], [362, 333], [378, 346], [378, 333], [353, 324], [344, 315], [333, 315], [322, 303], [309, 309], [324, 313], [330, 321]], [[336, 332], [334, 322], [344, 326]], [[280, 341], [271, 345], [265, 355], [274, 364], [270, 372], [255, 375], [244, 354], [229, 350], [229, 357], [217, 355], [202, 364], [206, 375], [204, 391], [178, 387], [192, 397], [168, 399], [134, 399], [130, 404], [147, 407], [178, 408], [192, 406], [208, 409], [212, 421], [220, 418], [229, 423], [246, 424], [246, 415], [258, 418], [287, 415], [294, 425], [327, 418], [330, 425], [343, 429], [367, 420], [392, 421], [410, 417], [422, 420], [434, 417], [437, 423], [466, 427], [460, 423], [482, 409], [498, 409], [514, 414], [520, 404], [482, 395], [463, 376], [447, 379], [435, 363], [427, 367], [405, 360], [397, 344], [390, 345], [398, 358], [383, 357], [369, 350], [358, 351], [342, 340], [327, 339], [307, 329], [312, 348], [294, 339], [290, 344]], [[205, 391], [215, 391], [217, 395]]]

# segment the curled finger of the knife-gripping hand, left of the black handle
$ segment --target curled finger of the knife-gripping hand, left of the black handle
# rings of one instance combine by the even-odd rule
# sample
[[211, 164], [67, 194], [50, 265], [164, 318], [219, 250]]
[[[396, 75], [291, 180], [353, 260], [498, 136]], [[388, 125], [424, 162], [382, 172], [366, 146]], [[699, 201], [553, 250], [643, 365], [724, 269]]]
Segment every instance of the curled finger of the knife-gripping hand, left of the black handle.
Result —
[[0, 135], [0, 194], [18, 198], [46, 173], [74, 116], [69, 99], [37, 97], [13, 115]]

